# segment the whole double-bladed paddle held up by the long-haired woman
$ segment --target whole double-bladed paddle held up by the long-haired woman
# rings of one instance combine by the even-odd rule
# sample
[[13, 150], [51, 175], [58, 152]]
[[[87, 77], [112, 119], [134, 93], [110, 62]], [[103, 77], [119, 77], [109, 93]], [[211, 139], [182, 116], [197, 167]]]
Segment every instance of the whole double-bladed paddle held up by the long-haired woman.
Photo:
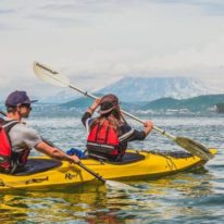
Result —
[[[64, 75], [50, 69], [47, 65], [43, 65], [40, 62], [34, 62], [34, 72], [43, 82], [47, 82], [47, 83], [50, 83], [52, 85], [60, 86], [60, 87], [69, 87], [69, 88], [76, 90], [76, 91], [78, 91], [78, 92], [80, 92], [80, 94], [83, 94], [91, 99], [97, 99], [96, 96], [94, 96], [87, 91], [84, 91], [84, 90], [79, 89], [78, 87], [72, 85], [70, 83], [70, 79], [67, 77], [65, 77]], [[141, 123], [141, 124], [145, 123], [144, 121], [141, 121], [137, 116], [135, 116], [126, 111], [122, 110], [122, 113], [129, 116], [130, 119]], [[160, 134], [169, 137], [174, 142], [176, 142], [178, 146], [181, 146], [185, 150], [189, 151], [191, 154], [197, 155], [204, 161], [208, 161], [208, 160], [213, 158], [213, 154], [204, 146], [202, 146], [201, 144], [199, 144], [192, 139], [189, 139], [186, 137], [174, 136], [174, 135], [169, 134], [165, 130], [163, 130], [157, 126], [153, 126], [153, 129], [155, 129]]]

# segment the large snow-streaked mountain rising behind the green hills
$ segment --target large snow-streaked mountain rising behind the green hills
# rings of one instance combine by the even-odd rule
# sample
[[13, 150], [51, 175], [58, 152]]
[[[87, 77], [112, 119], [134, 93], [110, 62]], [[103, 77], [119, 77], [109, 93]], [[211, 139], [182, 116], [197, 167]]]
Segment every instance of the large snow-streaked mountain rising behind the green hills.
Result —
[[164, 97], [185, 99], [214, 94], [200, 79], [189, 77], [125, 77], [98, 92], [115, 94], [126, 102], [151, 101]]

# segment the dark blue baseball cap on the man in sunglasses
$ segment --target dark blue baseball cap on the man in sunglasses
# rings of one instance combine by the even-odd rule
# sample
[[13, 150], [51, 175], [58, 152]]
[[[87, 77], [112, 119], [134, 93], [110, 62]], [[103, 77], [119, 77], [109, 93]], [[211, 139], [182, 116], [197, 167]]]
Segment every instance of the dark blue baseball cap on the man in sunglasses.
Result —
[[11, 92], [7, 100], [5, 100], [5, 107], [16, 107], [20, 104], [30, 104], [33, 102], [36, 102], [37, 100], [30, 100], [27, 96], [26, 91], [13, 91]]

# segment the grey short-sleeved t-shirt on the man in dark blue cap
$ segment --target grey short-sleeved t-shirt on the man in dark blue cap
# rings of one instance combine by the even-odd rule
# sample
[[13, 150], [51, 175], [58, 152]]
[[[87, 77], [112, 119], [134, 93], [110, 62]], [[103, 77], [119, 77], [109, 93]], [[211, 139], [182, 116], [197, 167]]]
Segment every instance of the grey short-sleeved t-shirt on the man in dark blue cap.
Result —
[[[9, 117], [4, 117], [4, 120], [10, 121]], [[14, 152], [21, 152], [27, 148], [32, 149], [42, 141], [37, 132], [27, 127], [27, 125], [24, 123], [14, 125], [11, 128], [9, 135], [12, 144], [12, 150]]]

